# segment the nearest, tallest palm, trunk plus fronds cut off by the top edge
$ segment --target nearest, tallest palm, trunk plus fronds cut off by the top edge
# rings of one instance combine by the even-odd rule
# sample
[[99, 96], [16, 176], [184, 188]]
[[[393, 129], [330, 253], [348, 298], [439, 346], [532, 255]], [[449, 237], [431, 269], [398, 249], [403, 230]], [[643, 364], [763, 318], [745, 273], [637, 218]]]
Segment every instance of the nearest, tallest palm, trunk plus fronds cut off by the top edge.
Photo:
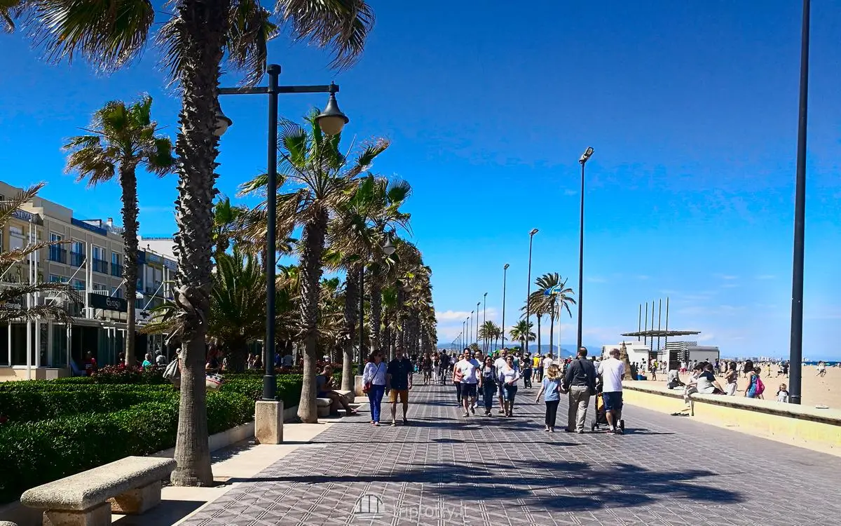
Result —
[[[331, 66], [344, 68], [362, 55], [373, 28], [373, 12], [364, 0], [277, 0], [272, 9], [257, 0], [176, 0], [173, 6], [172, 17], [155, 24], [160, 27], [155, 40], [164, 64], [182, 93], [175, 143], [180, 159], [175, 242], [176, 303], [185, 330], [172, 483], [209, 486], [213, 473], [205, 412], [204, 321], [209, 312], [214, 169], [219, 154], [214, 132], [225, 52], [230, 68], [245, 72], [246, 84], [257, 83], [266, 68], [267, 41], [280, 33], [272, 22], [272, 13], [278, 13], [289, 35], [330, 49]], [[116, 8], [93, 0], [0, 3], [5, 29], [14, 29], [16, 19], [27, 20], [47, 60], [82, 56], [103, 72], [117, 70], [142, 54], [156, 13], [150, 0], [125, 0]]]

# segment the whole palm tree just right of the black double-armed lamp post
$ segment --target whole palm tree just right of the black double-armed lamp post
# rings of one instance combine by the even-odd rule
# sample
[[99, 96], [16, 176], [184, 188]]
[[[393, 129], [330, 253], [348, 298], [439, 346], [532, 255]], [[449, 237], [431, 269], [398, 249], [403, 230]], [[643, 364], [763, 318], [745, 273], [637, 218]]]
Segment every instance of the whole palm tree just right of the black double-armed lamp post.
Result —
[[[339, 150], [340, 135], [326, 136], [316, 113], [306, 118], [307, 127], [284, 120], [278, 125], [278, 183], [283, 204], [292, 210], [284, 217], [304, 226], [300, 252], [300, 329], [304, 339], [304, 386], [298, 406], [303, 422], [318, 422], [315, 406], [315, 361], [318, 344], [318, 306], [325, 241], [331, 214], [336, 215], [352, 195], [357, 177], [373, 159], [385, 151], [388, 141], [363, 146], [354, 162]], [[267, 185], [265, 174], [244, 183], [241, 192], [261, 191]], [[292, 225], [287, 226], [290, 230]], [[270, 258], [272, 255], [269, 256]]]

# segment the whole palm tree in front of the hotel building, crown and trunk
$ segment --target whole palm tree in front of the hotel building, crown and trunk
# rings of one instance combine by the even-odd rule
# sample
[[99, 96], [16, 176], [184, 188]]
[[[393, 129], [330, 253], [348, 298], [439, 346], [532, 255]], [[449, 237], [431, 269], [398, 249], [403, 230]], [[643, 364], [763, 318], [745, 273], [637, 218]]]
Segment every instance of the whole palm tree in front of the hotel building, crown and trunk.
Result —
[[[67, 173], [77, 173], [77, 181], [88, 186], [108, 182], [116, 176], [123, 199], [123, 242], [125, 297], [128, 311], [125, 320], [125, 364], [135, 364], [135, 299], [137, 296], [137, 231], [140, 211], [137, 205], [137, 168], [163, 177], [175, 167], [172, 142], [158, 135], [158, 126], [151, 120], [152, 98], [143, 95], [138, 102], [126, 106], [121, 100], [105, 104], [93, 114], [87, 130], [90, 135], [77, 135], [66, 141]], [[91, 264], [87, 262], [87, 264]]]

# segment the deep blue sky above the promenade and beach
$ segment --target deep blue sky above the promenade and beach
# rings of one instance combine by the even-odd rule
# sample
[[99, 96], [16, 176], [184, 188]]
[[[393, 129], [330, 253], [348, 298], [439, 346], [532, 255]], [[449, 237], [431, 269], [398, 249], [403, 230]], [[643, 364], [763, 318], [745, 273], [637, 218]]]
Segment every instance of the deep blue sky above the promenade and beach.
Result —
[[[587, 165], [584, 342], [616, 343], [637, 306], [669, 296], [670, 327], [727, 355], [788, 352], [800, 7], [792, 2], [423, 4], [372, 2], [365, 55], [336, 74], [328, 57], [280, 38], [283, 83], [341, 84], [346, 138], [386, 136], [375, 169], [414, 187], [413, 238], [433, 269], [442, 343], [488, 292], [506, 321], [532, 276], [577, 283], [578, 157]], [[841, 10], [812, 7], [804, 353], [841, 358]], [[61, 139], [105, 101], [151, 93], [174, 132], [177, 98], [156, 52], [110, 77], [50, 66], [23, 35], [0, 35], [0, 178], [49, 182], [80, 217], [119, 215], [114, 185], [62, 173]], [[11, 74], [10, 74], [11, 73]], [[230, 85], [237, 77], [225, 77]], [[219, 187], [234, 194], [265, 163], [266, 102], [224, 98], [234, 120]], [[281, 97], [298, 118], [321, 95]], [[141, 231], [174, 231], [175, 178], [143, 178]], [[116, 217], [115, 217], [116, 219]], [[562, 340], [574, 342], [573, 317]], [[544, 337], [548, 329], [544, 327]]]

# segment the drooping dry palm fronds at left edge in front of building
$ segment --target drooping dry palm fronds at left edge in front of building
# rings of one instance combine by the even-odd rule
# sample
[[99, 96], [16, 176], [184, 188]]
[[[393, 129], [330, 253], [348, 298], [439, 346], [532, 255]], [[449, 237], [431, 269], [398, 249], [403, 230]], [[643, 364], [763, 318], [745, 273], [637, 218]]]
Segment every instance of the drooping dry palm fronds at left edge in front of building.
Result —
[[[8, 196], [8, 200], [0, 202], [0, 231], [6, 226], [14, 212], [20, 210], [25, 203], [29, 203], [44, 188], [44, 183], [35, 184], [24, 189], [19, 194]], [[25, 247], [0, 252], [0, 275], [6, 274], [12, 267], [28, 266], [30, 258], [34, 258], [44, 248], [57, 247], [65, 242], [28, 242]], [[27, 305], [30, 295], [45, 295], [46, 293], [65, 295], [71, 301], [81, 301], [77, 291], [70, 284], [40, 282], [4, 284], [0, 288], [0, 321], [36, 320], [52, 318], [63, 323], [70, 323], [71, 317], [67, 310], [55, 302], [45, 301], [43, 305]]]

